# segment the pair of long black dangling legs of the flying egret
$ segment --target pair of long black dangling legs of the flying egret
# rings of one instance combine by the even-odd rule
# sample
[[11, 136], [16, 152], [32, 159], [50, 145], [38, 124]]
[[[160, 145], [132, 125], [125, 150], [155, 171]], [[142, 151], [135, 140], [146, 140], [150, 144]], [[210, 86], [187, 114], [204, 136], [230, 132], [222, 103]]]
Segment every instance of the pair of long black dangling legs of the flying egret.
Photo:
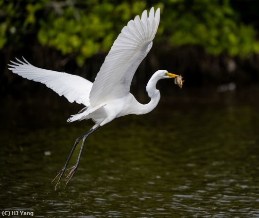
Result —
[[[57, 181], [57, 184], [56, 184], [56, 186], [55, 186], [55, 190], [57, 189], [57, 186], [60, 184], [60, 180], [61, 180], [62, 176], [64, 175], [65, 171], [67, 170], [67, 166], [68, 166], [68, 164], [69, 164], [69, 160], [70, 160], [72, 154], [74, 153], [74, 150], [75, 150], [77, 144], [79, 143], [79, 141], [83, 138], [83, 143], [82, 143], [82, 146], [81, 146], [81, 149], [80, 149], [80, 153], [79, 153], [79, 157], [78, 157], [78, 160], [77, 160], [77, 163], [76, 163], [77, 166], [78, 166], [78, 163], [79, 163], [79, 161], [80, 161], [80, 157], [81, 157], [81, 155], [82, 155], [82, 151], [83, 151], [83, 147], [84, 147], [84, 143], [85, 143], [86, 138], [87, 138], [91, 133], [93, 133], [96, 129], [98, 129], [99, 127], [100, 127], [100, 125], [98, 125], [98, 126], [95, 127], [95, 128], [91, 128], [88, 132], [86, 132], [85, 134], [81, 135], [80, 137], [78, 137], [78, 138], [75, 140], [74, 146], [73, 146], [73, 148], [72, 148], [72, 150], [71, 150], [71, 152], [70, 152], [70, 154], [69, 154], [69, 158], [67, 159], [65, 166], [63, 167], [63, 169], [62, 169], [61, 171], [58, 171], [58, 172], [55, 173], [55, 178], [52, 180], [52, 183], [53, 183], [53, 182], [59, 177], [59, 179], [58, 179], [58, 181]], [[75, 166], [76, 166], [76, 165], [75, 165]], [[75, 168], [74, 171], [76, 171], [76, 169], [77, 169], [77, 166], [76, 166], [76, 167], [75, 167], [75, 166], [72, 167], [72, 168]], [[68, 170], [70, 170], [70, 169], [72, 169], [72, 168], [69, 168]], [[70, 173], [69, 173], [69, 174], [70, 174]], [[73, 174], [74, 174], [74, 173], [73, 173]], [[72, 178], [73, 174], [71, 175], [71, 178]], [[71, 178], [70, 178], [70, 179], [71, 179]], [[70, 180], [70, 179], [69, 179], [69, 180]], [[68, 181], [68, 182], [69, 182], [69, 181]], [[68, 182], [67, 182], [67, 184], [68, 184]]]

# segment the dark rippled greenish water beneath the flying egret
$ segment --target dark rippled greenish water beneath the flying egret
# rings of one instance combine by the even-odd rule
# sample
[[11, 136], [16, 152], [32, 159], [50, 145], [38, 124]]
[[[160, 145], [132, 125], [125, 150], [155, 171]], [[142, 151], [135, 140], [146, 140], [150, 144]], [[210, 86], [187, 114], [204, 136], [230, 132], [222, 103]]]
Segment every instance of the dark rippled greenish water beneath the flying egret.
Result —
[[62, 181], [57, 191], [53, 173], [91, 122], [67, 124], [77, 109], [58, 96], [41, 104], [9, 99], [0, 209], [44, 218], [259, 217], [259, 92], [181, 92], [163, 93], [150, 114], [97, 130], [69, 185], [64, 190]]

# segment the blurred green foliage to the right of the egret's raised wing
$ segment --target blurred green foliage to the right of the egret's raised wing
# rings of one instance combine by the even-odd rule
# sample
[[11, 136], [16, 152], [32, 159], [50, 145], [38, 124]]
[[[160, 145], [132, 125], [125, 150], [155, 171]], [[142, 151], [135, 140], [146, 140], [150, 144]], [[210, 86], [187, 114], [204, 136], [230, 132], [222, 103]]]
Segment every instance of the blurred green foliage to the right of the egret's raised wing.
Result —
[[170, 35], [170, 44], [200, 45], [208, 53], [246, 56], [259, 52], [256, 31], [238, 22], [238, 15], [229, 1], [173, 0], [174, 11], [165, 11], [164, 25]]

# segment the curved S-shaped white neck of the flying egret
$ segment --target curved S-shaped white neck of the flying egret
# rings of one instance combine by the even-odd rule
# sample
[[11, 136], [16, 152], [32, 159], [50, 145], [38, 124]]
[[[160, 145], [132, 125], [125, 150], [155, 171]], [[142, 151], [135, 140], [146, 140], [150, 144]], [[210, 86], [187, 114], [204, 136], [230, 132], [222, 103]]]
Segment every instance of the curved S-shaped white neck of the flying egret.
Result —
[[155, 86], [159, 79], [161, 79], [161, 78], [158, 77], [158, 75], [154, 74], [148, 81], [146, 90], [147, 90], [148, 96], [151, 98], [151, 100], [148, 104], [145, 104], [145, 105], [139, 103], [138, 114], [149, 113], [151, 110], [155, 109], [155, 107], [157, 106], [157, 104], [160, 100], [160, 92], [159, 92], [159, 90], [156, 89]]

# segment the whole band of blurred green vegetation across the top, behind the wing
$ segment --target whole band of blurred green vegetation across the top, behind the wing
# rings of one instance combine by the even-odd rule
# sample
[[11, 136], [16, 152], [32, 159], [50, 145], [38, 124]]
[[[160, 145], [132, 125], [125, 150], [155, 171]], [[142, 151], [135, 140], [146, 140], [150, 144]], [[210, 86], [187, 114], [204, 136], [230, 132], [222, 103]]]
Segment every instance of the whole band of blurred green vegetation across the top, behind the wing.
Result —
[[127, 21], [151, 6], [162, 13], [158, 44], [197, 45], [215, 56], [259, 53], [256, 29], [242, 23], [229, 0], [0, 0], [0, 49], [36, 40], [82, 66], [107, 53]]

